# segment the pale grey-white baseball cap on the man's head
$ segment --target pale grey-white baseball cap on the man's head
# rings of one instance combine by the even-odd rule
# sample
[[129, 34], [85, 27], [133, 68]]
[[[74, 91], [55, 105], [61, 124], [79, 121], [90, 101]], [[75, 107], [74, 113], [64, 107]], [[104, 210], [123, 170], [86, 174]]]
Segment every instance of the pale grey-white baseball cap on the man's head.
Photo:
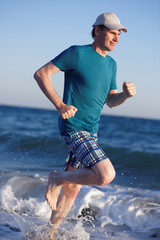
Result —
[[111, 30], [122, 30], [123, 32], [127, 32], [127, 29], [121, 25], [119, 18], [114, 13], [102, 13], [99, 15], [93, 27], [98, 25], [104, 25]]

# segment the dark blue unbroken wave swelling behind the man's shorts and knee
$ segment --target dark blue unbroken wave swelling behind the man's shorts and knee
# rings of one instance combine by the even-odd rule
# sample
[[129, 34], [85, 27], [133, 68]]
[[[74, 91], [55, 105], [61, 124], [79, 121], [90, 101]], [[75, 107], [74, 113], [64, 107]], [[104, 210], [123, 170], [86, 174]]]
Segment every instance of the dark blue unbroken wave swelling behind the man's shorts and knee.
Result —
[[[57, 135], [48, 137], [7, 132], [0, 135], [0, 143], [1, 165], [7, 171], [33, 171], [34, 174], [45, 170], [48, 174], [53, 168], [62, 170], [68, 155], [66, 145]], [[107, 145], [102, 147], [115, 166], [117, 175], [134, 175], [141, 182], [147, 182], [146, 178], [150, 177], [151, 185], [158, 187], [160, 153]]]

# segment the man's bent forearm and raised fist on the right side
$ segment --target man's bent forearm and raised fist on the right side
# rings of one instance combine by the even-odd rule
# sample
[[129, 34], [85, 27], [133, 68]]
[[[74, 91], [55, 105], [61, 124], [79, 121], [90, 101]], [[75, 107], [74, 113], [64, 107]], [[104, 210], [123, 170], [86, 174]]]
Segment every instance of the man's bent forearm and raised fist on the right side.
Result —
[[136, 88], [134, 83], [124, 82], [123, 92], [118, 93], [117, 90], [110, 90], [107, 96], [106, 104], [110, 108], [117, 107], [124, 103], [128, 98], [133, 97], [135, 94]]

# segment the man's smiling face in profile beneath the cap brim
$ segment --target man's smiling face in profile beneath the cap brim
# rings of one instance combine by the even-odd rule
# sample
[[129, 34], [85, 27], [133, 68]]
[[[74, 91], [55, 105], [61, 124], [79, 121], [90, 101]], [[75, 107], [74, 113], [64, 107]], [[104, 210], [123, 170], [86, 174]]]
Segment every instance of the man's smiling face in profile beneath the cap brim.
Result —
[[100, 30], [99, 28], [97, 28], [96, 40], [98, 41], [101, 50], [113, 51], [119, 41], [120, 34], [120, 30], [110, 30], [108, 28]]

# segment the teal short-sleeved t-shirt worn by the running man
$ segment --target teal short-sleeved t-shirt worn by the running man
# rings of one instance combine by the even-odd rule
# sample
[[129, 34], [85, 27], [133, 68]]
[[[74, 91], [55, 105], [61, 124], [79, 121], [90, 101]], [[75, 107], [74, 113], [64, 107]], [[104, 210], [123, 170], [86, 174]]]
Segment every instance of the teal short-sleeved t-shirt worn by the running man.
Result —
[[63, 101], [78, 111], [69, 119], [59, 118], [60, 133], [81, 130], [96, 133], [107, 95], [117, 89], [117, 64], [91, 45], [71, 46], [52, 60], [65, 72]]

